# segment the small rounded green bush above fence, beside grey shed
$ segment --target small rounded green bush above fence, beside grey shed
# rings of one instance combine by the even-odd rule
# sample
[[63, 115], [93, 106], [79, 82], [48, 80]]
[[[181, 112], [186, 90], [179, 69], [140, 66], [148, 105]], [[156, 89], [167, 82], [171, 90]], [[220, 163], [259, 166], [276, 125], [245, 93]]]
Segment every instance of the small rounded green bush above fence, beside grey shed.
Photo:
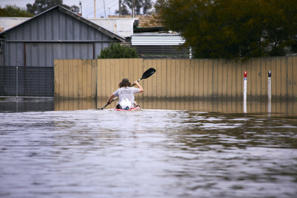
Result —
[[120, 43], [111, 43], [108, 47], [101, 50], [97, 59], [121, 59], [138, 58], [134, 47], [122, 46]]

